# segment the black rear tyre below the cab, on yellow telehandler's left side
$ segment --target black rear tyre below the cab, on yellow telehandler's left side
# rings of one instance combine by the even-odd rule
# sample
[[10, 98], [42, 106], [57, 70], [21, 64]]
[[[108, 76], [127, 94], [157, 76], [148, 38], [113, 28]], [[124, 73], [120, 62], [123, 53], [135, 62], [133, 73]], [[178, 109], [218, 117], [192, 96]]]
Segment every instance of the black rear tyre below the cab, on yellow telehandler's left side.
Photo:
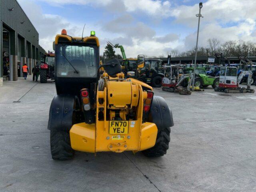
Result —
[[70, 136], [66, 131], [50, 132], [51, 154], [54, 160], [68, 160], [74, 155], [71, 148]]

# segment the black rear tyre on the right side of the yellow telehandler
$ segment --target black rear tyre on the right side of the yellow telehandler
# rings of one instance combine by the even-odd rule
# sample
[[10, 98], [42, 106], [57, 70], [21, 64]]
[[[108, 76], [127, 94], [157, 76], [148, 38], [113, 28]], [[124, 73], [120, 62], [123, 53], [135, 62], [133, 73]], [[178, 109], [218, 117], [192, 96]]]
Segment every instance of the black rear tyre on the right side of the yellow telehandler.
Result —
[[160, 157], [166, 154], [169, 148], [171, 128], [158, 128], [154, 147], [142, 151], [147, 157]]

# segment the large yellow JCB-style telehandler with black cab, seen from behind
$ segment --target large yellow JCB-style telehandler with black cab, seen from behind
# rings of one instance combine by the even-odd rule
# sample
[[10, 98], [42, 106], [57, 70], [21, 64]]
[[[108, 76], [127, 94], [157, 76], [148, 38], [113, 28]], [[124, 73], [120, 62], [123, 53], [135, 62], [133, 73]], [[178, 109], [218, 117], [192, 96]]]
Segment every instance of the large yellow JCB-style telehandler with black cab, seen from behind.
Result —
[[[82, 152], [142, 151], [148, 157], [166, 154], [172, 111], [154, 96], [152, 87], [124, 78], [118, 60], [100, 65], [99, 40], [68, 36], [54, 42], [55, 81], [48, 129], [52, 158]], [[144, 56], [139, 55], [140, 63]]]

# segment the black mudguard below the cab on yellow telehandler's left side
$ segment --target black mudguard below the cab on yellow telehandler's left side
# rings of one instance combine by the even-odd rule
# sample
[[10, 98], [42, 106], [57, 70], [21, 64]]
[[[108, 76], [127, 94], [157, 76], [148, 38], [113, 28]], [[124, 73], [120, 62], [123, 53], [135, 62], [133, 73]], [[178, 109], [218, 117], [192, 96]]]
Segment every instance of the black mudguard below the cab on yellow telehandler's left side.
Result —
[[76, 99], [72, 95], [56, 95], [51, 103], [48, 130], [66, 130], [72, 127]]

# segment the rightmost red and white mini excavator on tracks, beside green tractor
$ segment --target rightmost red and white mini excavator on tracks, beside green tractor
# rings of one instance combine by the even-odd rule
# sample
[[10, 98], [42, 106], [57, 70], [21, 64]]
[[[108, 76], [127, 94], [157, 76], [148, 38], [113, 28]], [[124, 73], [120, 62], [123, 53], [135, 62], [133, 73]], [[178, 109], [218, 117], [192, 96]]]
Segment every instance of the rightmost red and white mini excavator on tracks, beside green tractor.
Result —
[[[254, 93], [254, 89], [250, 88], [250, 79], [252, 71], [242, 71], [238, 75], [236, 67], [221, 67], [219, 86], [214, 91], [224, 91], [225, 93]], [[247, 88], [239, 87], [239, 83], [244, 76], [248, 75]]]

